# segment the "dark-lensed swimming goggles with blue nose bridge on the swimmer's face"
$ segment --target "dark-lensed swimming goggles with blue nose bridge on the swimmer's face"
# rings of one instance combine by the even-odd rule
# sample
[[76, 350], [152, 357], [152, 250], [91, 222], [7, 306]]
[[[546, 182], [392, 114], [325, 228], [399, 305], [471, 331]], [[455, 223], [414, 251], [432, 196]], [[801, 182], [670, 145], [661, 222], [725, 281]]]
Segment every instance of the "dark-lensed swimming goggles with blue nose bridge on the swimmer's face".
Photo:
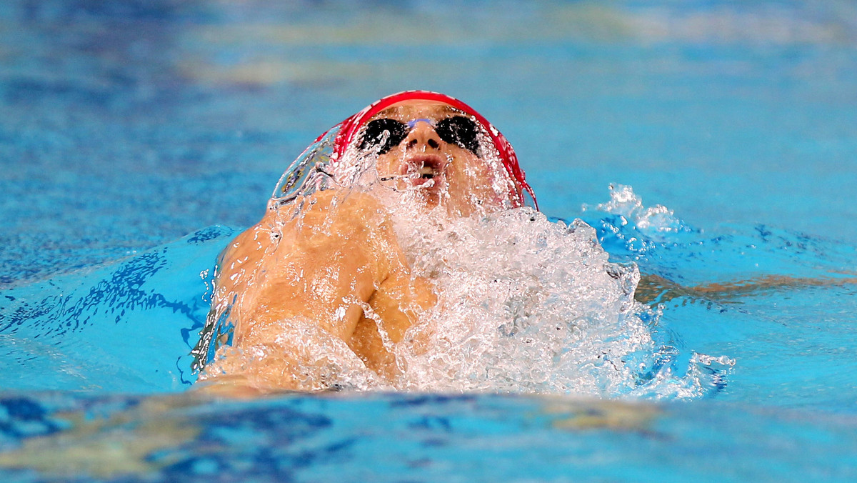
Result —
[[464, 116], [451, 116], [434, 121], [419, 118], [403, 123], [397, 119], [381, 118], [369, 121], [360, 142], [360, 149], [375, 149], [378, 154], [387, 154], [391, 149], [405, 141], [418, 123], [427, 123], [443, 142], [455, 144], [473, 154], [479, 149], [479, 126], [473, 119]]

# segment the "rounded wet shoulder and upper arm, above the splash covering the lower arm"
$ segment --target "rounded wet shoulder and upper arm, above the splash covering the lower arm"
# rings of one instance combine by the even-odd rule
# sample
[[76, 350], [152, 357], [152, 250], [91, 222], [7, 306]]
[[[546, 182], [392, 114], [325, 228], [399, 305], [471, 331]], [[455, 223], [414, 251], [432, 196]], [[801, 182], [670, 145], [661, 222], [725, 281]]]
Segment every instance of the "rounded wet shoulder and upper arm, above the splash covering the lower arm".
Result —
[[[238, 323], [247, 324], [237, 335], [267, 340], [278, 320], [297, 317], [347, 341], [363, 304], [404, 263], [386, 210], [363, 193], [328, 190], [305, 200], [297, 217], [268, 213], [225, 254], [219, 290], [241, 292]], [[228, 280], [248, 263], [254, 274], [244, 285]]]

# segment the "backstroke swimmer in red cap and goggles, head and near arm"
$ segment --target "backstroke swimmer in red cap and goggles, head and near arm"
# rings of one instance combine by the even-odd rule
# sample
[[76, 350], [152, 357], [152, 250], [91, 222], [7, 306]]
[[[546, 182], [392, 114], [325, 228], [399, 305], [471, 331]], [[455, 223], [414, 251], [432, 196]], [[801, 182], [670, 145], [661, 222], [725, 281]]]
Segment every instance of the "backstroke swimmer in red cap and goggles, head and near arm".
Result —
[[470, 106], [427, 91], [377, 101], [307, 148], [221, 255], [194, 349], [200, 380], [230, 393], [326, 389], [345, 358], [390, 383], [389, 345], [437, 297], [411, 274], [389, 202], [466, 217], [528, 197], [535, 206], [511, 145]]

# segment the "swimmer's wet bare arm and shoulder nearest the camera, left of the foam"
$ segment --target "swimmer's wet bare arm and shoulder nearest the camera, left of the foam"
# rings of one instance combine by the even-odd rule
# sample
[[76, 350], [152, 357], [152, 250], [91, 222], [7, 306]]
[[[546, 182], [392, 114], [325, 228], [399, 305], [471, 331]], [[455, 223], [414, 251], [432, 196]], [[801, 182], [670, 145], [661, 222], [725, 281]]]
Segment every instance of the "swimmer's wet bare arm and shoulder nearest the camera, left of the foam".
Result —
[[[411, 279], [387, 213], [374, 198], [324, 191], [307, 207], [299, 217], [269, 211], [225, 252], [209, 322], [231, 305], [234, 347], [221, 353], [235, 355], [201, 379], [225, 380], [225, 373], [230, 385], [317, 389], [296, 377], [325, 365], [325, 358], [351, 358], [379, 371], [370, 364], [378, 359], [376, 346], [352, 343], [356, 332], [365, 332], [359, 327], [376, 326], [364, 310], [399, 341], [417, 311], [434, 304], [428, 283]], [[261, 356], [248, 365], [248, 353]], [[237, 362], [230, 365], [230, 359]]]

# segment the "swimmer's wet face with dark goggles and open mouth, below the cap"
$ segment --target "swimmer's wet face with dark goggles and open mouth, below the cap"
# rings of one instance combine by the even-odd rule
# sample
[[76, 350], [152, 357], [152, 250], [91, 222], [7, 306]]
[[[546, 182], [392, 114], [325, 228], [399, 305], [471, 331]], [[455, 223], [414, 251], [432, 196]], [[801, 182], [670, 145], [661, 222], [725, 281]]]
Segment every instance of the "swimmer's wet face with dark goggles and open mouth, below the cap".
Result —
[[385, 186], [425, 208], [440, 205], [451, 216], [469, 216], [514, 203], [500, 161], [482, 157], [482, 136], [476, 119], [446, 103], [407, 100], [369, 120], [362, 147], [380, 147], [375, 169]]

